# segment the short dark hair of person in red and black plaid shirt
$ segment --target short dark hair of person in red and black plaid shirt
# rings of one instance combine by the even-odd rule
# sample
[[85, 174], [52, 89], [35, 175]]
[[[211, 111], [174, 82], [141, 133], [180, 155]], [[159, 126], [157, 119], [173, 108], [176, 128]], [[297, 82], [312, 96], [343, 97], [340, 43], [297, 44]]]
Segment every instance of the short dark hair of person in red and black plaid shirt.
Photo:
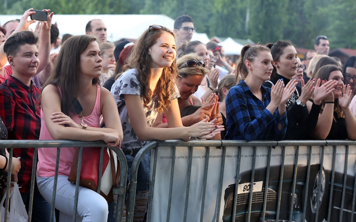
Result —
[[39, 37], [31, 31], [19, 32], [7, 38], [3, 50], [6, 53], [6, 56], [14, 56], [20, 50], [20, 46], [24, 44], [35, 45], [38, 41]]

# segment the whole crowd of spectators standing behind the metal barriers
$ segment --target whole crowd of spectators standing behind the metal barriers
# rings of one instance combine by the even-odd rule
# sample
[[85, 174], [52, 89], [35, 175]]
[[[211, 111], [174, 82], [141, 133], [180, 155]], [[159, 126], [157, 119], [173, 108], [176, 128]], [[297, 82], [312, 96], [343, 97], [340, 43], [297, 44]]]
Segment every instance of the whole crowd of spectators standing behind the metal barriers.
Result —
[[[236, 65], [223, 47], [191, 41], [190, 16], [174, 30], [149, 26], [135, 42], [107, 42], [94, 19], [86, 35], [63, 35], [47, 21], [28, 26], [36, 12], [0, 27], [0, 139], [102, 140], [123, 150], [129, 172], [137, 152], [152, 140], [356, 140], [356, 57], [329, 57], [329, 40], [315, 39], [303, 60], [290, 41], [246, 45]], [[163, 129], [165, 128], [165, 129]], [[68, 181], [76, 148], [61, 148], [55, 209], [72, 221], [75, 185]], [[56, 148], [13, 150], [12, 181], [29, 204], [36, 173], [32, 221], [48, 222]], [[0, 149], [0, 194], [9, 154]], [[32, 172], [33, 161], [38, 161]], [[150, 156], [141, 160], [134, 221], [144, 221]], [[129, 174], [130, 177], [130, 174]], [[80, 187], [77, 216], [114, 221], [114, 204]]]

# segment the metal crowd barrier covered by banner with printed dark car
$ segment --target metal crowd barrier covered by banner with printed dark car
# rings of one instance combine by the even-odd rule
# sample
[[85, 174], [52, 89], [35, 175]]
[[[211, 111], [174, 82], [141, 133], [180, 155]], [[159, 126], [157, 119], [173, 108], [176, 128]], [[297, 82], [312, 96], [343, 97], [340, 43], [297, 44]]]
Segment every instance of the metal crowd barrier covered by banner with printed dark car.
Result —
[[[151, 142], [132, 164], [127, 222], [133, 221], [137, 170], [147, 152], [147, 222], [356, 220], [355, 141]], [[213, 169], [217, 173], [212, 174]]]

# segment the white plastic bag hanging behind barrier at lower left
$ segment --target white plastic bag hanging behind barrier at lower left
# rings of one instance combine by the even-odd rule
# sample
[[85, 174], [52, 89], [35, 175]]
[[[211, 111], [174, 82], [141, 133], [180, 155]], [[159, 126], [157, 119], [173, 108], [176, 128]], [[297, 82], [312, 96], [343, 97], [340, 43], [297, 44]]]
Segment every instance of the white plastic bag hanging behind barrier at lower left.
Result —
[[14, 187], [10, 193], [10, 218], [9, 222], [27, 222], [28, 216], [25, 209], [25, 205], [22, 201], [20, 190], [18, 185], [14, 183]]

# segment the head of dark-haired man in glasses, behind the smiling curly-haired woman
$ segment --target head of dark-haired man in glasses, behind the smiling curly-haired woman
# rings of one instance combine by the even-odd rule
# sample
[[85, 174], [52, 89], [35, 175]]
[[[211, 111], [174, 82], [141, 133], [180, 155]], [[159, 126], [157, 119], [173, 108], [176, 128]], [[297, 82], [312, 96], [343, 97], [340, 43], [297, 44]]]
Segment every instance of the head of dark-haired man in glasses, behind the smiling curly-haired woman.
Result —
[[193, 20], [189, 15], [181, 15], [176, 18], [173, 32], [176, 35], [176, 45], [179, 47], [183, 43], [187, 43], [196, 31]]

